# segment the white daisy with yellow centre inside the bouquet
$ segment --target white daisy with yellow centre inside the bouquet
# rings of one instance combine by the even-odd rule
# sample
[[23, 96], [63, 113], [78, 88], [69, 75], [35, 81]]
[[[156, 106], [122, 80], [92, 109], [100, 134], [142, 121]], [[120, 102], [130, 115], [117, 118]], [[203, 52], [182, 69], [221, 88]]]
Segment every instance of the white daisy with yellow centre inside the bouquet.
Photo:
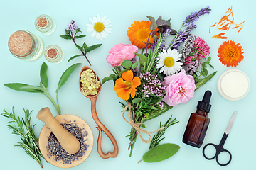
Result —
[[160, 52], [157, 60], [159, 60], [156, 64], [156, 67], [160, 69], [160, 72], [164, 72], [166, 75], [171, 75], [174, 73], [178, 73], [180, 69], [182, 69], [182, 62], [177, 62], [181, 59], [181, 54], [178, 53], [178, 50], [171, 50], [169, 48], [167, 51], [163, 49], [163, 52]]

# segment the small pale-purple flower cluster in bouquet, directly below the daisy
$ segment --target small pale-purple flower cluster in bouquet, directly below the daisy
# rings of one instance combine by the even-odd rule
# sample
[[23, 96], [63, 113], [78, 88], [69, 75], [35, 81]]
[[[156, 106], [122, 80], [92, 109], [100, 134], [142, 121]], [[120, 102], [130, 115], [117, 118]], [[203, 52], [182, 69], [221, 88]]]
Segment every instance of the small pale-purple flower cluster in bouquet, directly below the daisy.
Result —
[[165, 86], [161, 84], [157, 75], [151, 74], [151, 72], [146, 72], [140, 74], [139, 78], [142, 80], [144, 97], [149, 97], [153, 94], [159, 98], [164, 95]]

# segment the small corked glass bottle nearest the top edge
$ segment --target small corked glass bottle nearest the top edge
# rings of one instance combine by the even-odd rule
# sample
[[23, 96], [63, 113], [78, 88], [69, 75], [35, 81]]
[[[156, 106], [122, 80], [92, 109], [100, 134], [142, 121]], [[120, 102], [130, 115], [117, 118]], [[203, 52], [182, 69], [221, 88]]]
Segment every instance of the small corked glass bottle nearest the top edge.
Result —
[[36, 29], [41, 33], [50, 35], [55, 31], [56, 24], [50, 16], [40, 15], [35, 20]]

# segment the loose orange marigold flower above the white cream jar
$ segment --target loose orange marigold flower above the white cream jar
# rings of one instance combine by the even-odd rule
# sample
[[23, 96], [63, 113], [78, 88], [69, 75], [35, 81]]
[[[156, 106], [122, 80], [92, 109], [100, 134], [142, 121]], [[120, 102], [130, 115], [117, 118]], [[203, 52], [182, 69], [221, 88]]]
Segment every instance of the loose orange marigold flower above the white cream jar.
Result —
[[227, 67], [237, 66], [243, 57], [242, 47], [240, 44], [235, 44], [235, 41], [231, 40], [223, 42], [218, 48], [218, 57], [220, 62], [222, 62]]

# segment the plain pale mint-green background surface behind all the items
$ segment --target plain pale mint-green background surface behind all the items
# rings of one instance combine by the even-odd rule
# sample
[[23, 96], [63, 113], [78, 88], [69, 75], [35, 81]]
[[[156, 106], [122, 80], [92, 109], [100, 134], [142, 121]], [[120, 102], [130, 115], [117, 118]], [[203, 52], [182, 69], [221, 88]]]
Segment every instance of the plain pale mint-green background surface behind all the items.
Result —
[[[67, 62], [70, 57], [78, 54], [73, 42], [64, 40], [59, 35], [65, 33], [65, 28], [70, 20], [75, 20], [81, 28], [86, 38], [78, 40], [78, 44], [87, 42], [87, 45], [102, 43], [102, 47], [88, 53], [92, 69], [99, 75], [100, 79], [112, 74], [112, 66], [107, 64], [105, 58], [108, 51], [118, 43], [128, 44], [127, 28], [134, 21], [147, 20], [146, 15], [158, 18], [160, 15], [164, 19], [171, 18], [171, 27], [178, 30], [181, 23], [192, 11], [198, 11], [200, 8], [210, 6], [212, 11], [210, 15], [201, 17], [196, 21], [196, 30], [193, 30], [193, 35], [204, 38], [210, 46], [210, 55], [212, 64], [215, 69], [208, 69], [209, 72], [218, 70], [218, 73], [213, 77], [212, 81], [196, 91], [193, 98], [186, 104], [176, 106], [171, 111], [159, 116], [149, 122], [146, 122], [146, 130], [154, 131], [159, 128], [159, 122], [165, 121], [174, 115], [180, 122], [166, 131], [166, 137], [162, 143], [171, 142], [179, 145], [181, 149], [163, 162], [148, 164], [145, 162], [137, 163], [142, 159], [144, 152], [148, 150], [149, 144], [144, 144], [141, 140], [137, 140], [134, 147], [132, 157], [129, 157], [127, 147], [129, 145], [128, 138], [130, 126], [122, 119], [122, 108], [119, 106], [121, 98], [117, 98], [112, 89], [112, 82], [107, 82], [102, 86], [100, 96], [97, 98], [97, 113], [102, 123], [112, 132], [112, 135], [117, 140], [119, 145], [119, 154], [116, 158], [102, 159], [97, 153], [96, 141], [98, 131], [95, 128], [95, 122], [92, 120], [90, 113], [90, 100], [82, 96], [78, 89], [78, 79], [82, 65], [87, 65], [87, 61], [83, 58], [77, 58], [71, 62]], [[218, 94], [216, 87], [218, 77], [225, 72], [228, 67], [225, 67], [218, 60], [218, 47], [225, 41], [221, 39], [211, 38], [213, 35], [221, 33], [221, 30], [212, 28], [212, 33], [208, 33], [208, 28], [215, 22], [220, 20], [229, 6], [233, 6], [233, 14], [235, 23], [241, 23], [245, 20], [245, 26], [240, 33], [237, 29], [230, 30], [225, 35], [228, 35], [228, 40], [235, 40], [240, 43], [244, 49], [244, 60], [240, 62], [236, 69], [240, 69], [250, 78], [251, 89], [249, 94], [240, 101], [228, 101]], [[52, 35], [43, 35], [34, 27], [34, 20], [40, 14], [47, 14], [52, 17], [57, 28]], [[106, 15], [112, 21], [112, 34], [107, 39], [95, 40], [90, 38], [90, 34], [86, 32], [86, 25], [90, 23], [89, 18], [100, 14]], [[95, 143], [90, 156], [72, 169], [256, 169], [256, 147], [255, 147], [255, 1], [244, 0], [180, 0], [180, 1], [3, 1], [0, 5], [0, 28], [1, 28], [1, 57], [0, 57], [0, 108], [11, 111], [14, 106], [16, 115], [23, 116], [23, 108], [33, 110], [31, 123], [36, 124], [35, 132], [38, 136], [43, 123], [36, 118], [38, 111], [48, 106], [53, 115], [57, 115], [55, 108], [48, 99], [41, 94], [29, 94], [26, 92], [13, 91], [7, 89], [4, 84], [11, 82], [21, 82], [26, 84], [39, 84], [39, 70], [41, 64], [48, 64], [49, 92], [55, 98], [55, 89], [58, 85], [58, 80], [61, 74], [71, 64], [81, 62], [81, 66], [75, 69], [75, 72], [68, 79], [65, 86], [59, 91], [59, 103], [62, 114], [78, 115], [84, 119], [92, 128]], [[48, 62], [43, 55], [33, 62], [18, 60], [9, 52], [7, 42], [9, 36], [16, 30], [30, 30], [32, 33], [40, 36], [44, 43], [44, 48], [48, 45], [59, 45], [65, 51], [65, 59], [60, 64], [52, 64]], [[228, 149], [232, 155], [232, 162], [228, 166], [219, 166], [215, 160], [208, 161], [203, 157], [202, 149], [190, 147], [181, 142], [183, 132], [186, 128], [189, 115], [196, 111], [196, 105], [202, 99], [203, 93], [206, 90], [213, 92], [210, 103], [212, 109], [209, 113], [210, 125], [203, 146], [208, 142], [218, 144], [225, 131], [228, 122], [235, 111], [238, 111], [235, 123], [230, 131], [225, 149]], [[36, 170], [41, 169], [38, 164], [28, 157], [23, 149], [14, 147], [19, 137], [11, 134], [6, 125], [7, 118], [0, 117], [0, 167], [3, 170], [9, 169], [26, 169]], [[144, 135], [147, 139], [147, 136]], [[103, 149], [105, 152], [112, 151], [112, 144], [103, 136]], [[59, 169], [51, 164], [46, 163], [42, 159], [44, 169], [54, 170]]]

